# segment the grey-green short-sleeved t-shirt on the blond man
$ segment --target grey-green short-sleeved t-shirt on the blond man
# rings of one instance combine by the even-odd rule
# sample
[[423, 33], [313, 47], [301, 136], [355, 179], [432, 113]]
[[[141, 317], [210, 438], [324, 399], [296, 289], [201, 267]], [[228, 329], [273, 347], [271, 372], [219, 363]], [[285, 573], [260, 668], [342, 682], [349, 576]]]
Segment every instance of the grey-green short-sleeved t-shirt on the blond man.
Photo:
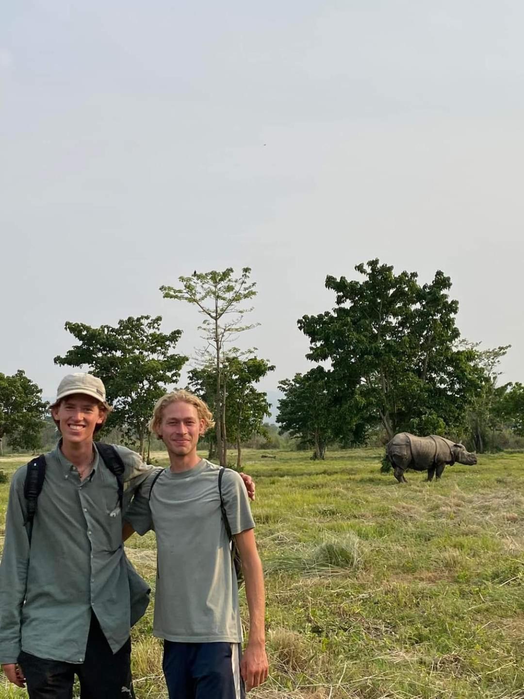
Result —
[[[242, 640], [238, 587], [221, 518], [219, 466], [166, 468], [151, 491], [143, 484], [125, 518], [139, 534], [157, 534], [157, 589], [153, 633], [186, 643]], [[148, 483], [149, 481], [149, 483]], [[227, 469], [222, 496], [231, 532], [254, 528], [242, 478]]]

